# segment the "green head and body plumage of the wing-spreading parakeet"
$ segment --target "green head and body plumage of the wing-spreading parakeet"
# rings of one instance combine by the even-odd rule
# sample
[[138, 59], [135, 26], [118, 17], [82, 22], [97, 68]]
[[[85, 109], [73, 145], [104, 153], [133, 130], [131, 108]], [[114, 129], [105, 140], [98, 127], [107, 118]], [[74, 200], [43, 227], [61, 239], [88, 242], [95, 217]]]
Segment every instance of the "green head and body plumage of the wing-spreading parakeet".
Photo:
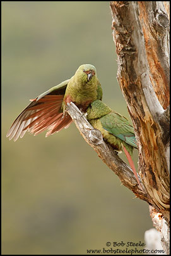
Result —
[[[88, 74], [93, 74], [91, 79], [88, 80]], [[65, 80], [50, 88], [45, 93], [40, 94], [38, 99], [43, 98], [45, 95], [59, 95], [64, 94], [61, 112], [66, 109], [66, 103], [73, 101], [78, 107], [86, 110], [88, 105], [95, 99], [102, 100], [102, 87], [97, 78], [96, 68], [91, 64], [81, 65], [71, 79]]]

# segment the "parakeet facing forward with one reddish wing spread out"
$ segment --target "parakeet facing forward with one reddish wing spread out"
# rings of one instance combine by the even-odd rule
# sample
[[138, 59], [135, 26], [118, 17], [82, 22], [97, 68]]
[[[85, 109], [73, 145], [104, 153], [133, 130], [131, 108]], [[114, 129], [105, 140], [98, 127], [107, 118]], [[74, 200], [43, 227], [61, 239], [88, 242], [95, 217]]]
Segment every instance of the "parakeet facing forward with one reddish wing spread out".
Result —
[[11, 125], [7, 137], [23, 138], [27, 131], [34, 135], [48, 130], [46, 137], [67, 128], [72, 119], [66, 114], [66, 104], [73, 101], [83, 112], [95, 99], [102, 99], [102, 87], [93, 65], [81, 65], [76, 73], [61, 84], [50, 88], [20, 113]]

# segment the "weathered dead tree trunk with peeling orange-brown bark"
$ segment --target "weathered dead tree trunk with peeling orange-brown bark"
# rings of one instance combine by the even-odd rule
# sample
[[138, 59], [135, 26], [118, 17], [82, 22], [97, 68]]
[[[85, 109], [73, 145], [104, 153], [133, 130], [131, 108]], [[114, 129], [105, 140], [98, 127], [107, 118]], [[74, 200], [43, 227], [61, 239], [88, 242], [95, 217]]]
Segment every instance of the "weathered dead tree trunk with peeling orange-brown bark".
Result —
[[133, 120], [139, 175], [168, 253], [169, 2], [112, 1], [110, 8], [117, 80]]

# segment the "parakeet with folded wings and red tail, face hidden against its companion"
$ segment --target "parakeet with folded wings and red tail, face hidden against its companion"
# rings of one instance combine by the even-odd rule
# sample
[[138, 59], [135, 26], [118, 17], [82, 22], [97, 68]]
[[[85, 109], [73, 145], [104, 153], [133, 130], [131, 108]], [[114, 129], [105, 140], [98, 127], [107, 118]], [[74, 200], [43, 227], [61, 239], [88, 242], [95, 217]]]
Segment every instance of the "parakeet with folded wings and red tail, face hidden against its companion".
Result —
[[[102, 132], [103, 139], [109, 143], [115, 151], [124, 151], [127, 160], [133, 169], [134, 176], [141, 188], [136, 169], [131, 155], [133, 149], [137, 148], [134, 129], [126, 117], [114, 112], [100, 100], [93, 101], [86, 111], [88, 122]], [[142, 189], [142, 188], [141, 188]]]

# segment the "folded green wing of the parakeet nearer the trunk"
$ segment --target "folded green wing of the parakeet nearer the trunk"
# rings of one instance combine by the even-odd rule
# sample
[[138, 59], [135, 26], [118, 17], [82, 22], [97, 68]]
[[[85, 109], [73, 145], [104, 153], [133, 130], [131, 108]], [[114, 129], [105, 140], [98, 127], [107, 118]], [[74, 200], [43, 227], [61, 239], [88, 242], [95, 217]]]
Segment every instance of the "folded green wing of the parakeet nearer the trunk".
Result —
[[111, 112], [100, 118], [103, 129], [114, 134], [115, 137], [125, 141], [127, 144], [137, 148], [134, 129], [126, 117], [119, 113]]

